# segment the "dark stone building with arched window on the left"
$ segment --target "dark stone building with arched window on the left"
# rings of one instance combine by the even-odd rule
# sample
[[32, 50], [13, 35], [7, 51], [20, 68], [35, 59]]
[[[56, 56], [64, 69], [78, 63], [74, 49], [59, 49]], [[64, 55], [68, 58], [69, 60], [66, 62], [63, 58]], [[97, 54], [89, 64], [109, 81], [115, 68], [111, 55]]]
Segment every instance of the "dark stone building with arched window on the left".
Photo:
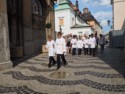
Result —
[[54, 37], [54, 1], [0, 0], [0, 70], [15, 58], [40, 54], [47, 36]]

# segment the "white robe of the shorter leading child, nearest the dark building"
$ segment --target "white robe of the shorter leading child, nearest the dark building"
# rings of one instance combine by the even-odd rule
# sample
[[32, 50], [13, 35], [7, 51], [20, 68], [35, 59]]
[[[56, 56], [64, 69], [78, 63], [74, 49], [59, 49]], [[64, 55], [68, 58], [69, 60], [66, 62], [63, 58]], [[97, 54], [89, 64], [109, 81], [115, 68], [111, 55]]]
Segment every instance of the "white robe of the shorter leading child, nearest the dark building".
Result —
[[49, 56], [55, 56], [55, 42], [53, 40], [48, 41], [46, 43], [46, 48], [48, 49], [48, 55]]

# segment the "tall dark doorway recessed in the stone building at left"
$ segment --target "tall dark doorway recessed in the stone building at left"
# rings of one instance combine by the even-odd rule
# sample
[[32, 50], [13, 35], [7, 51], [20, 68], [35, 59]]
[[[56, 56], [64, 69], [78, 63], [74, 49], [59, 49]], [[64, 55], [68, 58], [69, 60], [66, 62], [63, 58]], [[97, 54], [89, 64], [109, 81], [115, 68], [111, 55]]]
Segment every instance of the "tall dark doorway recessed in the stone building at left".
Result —
[[23, 0], [7, 0], [11, 60], [23, 57]]

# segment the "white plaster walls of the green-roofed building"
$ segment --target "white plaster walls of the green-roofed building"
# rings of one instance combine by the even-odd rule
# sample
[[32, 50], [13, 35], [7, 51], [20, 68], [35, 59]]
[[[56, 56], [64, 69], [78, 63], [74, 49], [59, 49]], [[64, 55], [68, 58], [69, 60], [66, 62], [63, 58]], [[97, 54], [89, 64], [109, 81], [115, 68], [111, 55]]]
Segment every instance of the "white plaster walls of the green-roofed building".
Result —
[[[72, 9], [65, 9], [65, 10], [58, 10], [55, 11], [55, 31], [58, 32], [59, 29], [59, 18], [64, 18], [64, 26], [61, 26], [63, 35], [79, 35], [80, 32], [82, 35], [84, 34], [91, 34], [92, 30], [91, 27], [85, 28], [71, 28], [75, 25], [75, 12]], [[72, 20], [74, 19], [74, 20]], [[85, 24], [81, 18], [76, 18], [76, 23], [79, 25]]]

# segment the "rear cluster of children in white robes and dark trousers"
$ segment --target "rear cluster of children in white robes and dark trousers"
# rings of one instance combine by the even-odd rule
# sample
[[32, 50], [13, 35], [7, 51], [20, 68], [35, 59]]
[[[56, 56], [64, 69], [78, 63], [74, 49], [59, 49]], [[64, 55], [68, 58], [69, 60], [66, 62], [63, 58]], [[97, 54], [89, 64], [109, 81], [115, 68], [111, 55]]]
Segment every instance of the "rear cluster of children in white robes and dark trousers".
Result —
[[78, 55], [81, 55], [83, 50], [85, 55], [90, 54], [95, 57], [97, 40], [93, 34], [89, 35], [89, 37], [84, 35], [83, 38], [79, 36], [78, 39], [77, 36], [74, 35], [69, 46], [72, 48], [72, 55], [76, 55], [77, 50]]

